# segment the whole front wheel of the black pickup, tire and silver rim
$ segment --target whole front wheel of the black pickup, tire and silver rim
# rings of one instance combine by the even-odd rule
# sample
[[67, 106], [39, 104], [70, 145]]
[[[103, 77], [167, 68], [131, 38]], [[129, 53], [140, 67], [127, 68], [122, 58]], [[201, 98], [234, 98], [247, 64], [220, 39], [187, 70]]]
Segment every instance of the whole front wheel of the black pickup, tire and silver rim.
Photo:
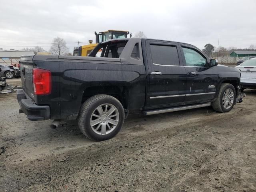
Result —
[[223, 83], [220, 86], [218, 98], [212, 102], [212, 108], [218, 112], [229, 112], [236, 102], [236, 90], [232, 84]]

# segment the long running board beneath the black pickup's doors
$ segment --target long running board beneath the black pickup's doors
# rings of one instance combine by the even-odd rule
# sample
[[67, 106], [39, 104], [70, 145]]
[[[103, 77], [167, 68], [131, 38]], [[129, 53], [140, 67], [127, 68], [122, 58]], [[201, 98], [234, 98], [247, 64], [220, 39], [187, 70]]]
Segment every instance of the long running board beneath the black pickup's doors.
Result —
[[164, 108], [164, 109], [159, 109], [159, 110], [146, 110], [146, 111], [143, 111], [143, 114], [144, 115], [154, 115], [154, 114], [159, 114], [159, 113], [168, 113], [168, 112], [173, 112], [173, 111], [182, 111], [182, 110], [187, 110], [187, 109], [207, 107], [210, 105], [211, 105], [211, 103], [202, 103], [202, 104], [196, 104], [196, 105], [186, 105], [186, 106], [182, 106], [182, 107]]

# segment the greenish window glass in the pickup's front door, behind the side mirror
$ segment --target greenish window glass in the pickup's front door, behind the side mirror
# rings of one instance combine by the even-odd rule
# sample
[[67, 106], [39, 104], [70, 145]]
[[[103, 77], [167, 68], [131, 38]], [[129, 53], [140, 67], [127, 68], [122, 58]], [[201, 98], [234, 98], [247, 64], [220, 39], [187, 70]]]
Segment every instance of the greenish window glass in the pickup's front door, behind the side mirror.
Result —
[[206, 58], [203, 57], [197, 51], [182, 47], [184, 52], [186, 66], [193, 66], [193, 67], [206, 67]]

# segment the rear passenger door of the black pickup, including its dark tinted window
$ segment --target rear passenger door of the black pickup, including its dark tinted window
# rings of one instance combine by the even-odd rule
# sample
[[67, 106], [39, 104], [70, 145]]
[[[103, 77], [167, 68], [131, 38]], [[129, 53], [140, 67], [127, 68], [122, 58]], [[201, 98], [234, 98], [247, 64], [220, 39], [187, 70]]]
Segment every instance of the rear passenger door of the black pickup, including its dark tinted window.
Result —
[[149, 105], [171, 106], [183, 102], [186, 94], [186, 70], [182, 66], [178, 44], [155, 40], [148, 40], [146, 44]]

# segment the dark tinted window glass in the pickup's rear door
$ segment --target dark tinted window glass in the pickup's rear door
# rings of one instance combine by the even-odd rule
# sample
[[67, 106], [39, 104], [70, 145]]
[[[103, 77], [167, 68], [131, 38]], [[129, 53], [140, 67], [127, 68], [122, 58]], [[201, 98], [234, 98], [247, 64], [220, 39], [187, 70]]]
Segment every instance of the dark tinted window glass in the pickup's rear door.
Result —
[[152, 62], [159, 65], [180, 65], [176, 46], [150, 45]]

